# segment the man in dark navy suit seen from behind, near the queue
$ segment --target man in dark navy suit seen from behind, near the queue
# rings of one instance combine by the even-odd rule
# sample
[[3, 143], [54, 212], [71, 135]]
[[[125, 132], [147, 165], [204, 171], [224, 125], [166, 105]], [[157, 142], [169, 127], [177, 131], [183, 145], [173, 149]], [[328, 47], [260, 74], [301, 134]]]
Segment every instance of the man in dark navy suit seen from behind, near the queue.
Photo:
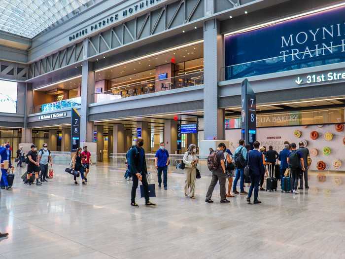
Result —
[[261, 201], [258, 200], [258, 195], [260, 176], [261, 174], [264, 174], [264, 163], [262, 160], [262, 153], [258, 150], [260, 147], [260, 143], [258, 141], [255, 141], [253, 146], [254, 149], [247, 153], [249, 175], [251, 178], [251, 185], [249, 188], [247, 202], [250, 203], [250, 197], [254, 189], [254, 204], [258, 204], [261, 203]]

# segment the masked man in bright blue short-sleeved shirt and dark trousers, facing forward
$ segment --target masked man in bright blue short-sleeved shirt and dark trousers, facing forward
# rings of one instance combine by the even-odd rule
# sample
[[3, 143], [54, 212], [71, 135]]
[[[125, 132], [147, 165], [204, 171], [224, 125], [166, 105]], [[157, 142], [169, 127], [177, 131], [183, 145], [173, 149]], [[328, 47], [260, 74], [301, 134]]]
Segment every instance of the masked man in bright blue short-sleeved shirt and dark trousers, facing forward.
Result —
[[159, 144], [159, 149], [155, 155], [155, 165], [158, 174], [158, 187], [162, 186], [162, 172], [163, 172], [163, 185], [164, 189], [168, 189], [168, 165], [169, 165], [169, 152], [164, 148], [164, 142]]

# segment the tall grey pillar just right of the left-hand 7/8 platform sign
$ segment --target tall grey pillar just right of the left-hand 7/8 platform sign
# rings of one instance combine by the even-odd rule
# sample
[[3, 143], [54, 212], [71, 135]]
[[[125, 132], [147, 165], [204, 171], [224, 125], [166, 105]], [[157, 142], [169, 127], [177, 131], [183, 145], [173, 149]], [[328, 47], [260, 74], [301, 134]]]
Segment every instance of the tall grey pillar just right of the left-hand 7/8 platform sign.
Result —
[[[87, 42], [87, 40], [86, 40]], [[86, 43], [88, 44], [88, 43]], [[84, 49], [87, 48], [84, 42]], [[84, 61], [81, 73], [80, 142], [93, 141], [93, 122], [88, 121], [89, 104], [93, 103], [95, 72], [91, 62]], [[103, 148], [102, 148], [103, 149]]]

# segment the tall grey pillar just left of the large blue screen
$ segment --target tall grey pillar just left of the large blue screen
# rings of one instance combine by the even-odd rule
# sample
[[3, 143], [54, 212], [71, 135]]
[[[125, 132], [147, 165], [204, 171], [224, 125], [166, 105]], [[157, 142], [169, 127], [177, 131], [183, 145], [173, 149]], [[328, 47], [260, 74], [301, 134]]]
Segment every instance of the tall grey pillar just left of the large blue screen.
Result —
[[204, 23], [204, 140], [225, 138], [224, 111], [219, 110], [218, 86], [224, 67], [224, 37], [216, 19]]

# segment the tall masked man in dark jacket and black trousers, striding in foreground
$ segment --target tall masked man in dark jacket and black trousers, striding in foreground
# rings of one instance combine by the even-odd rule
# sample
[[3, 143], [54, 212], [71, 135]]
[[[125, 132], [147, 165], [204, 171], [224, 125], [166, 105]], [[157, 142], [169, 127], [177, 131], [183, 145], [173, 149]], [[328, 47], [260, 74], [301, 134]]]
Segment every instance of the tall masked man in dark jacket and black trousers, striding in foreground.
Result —
[[144, 140], [142, 138], [137, 138], [137, 145], [133, 146], [129, 150], [129, 161], [132, 174], [132, 193], [131, 193], [131, 206], [139, 207], [136, 203], [136, 192], [138, 188], [139, 180], [142, 183], [145, 195], [145, 206], [146, 207], [155, 207], [156, 204], [150, 202], [148, 196], [148, 183], [147, 183], [147, 167], [145, 159], [145, 150], [142, 148], [144, 145]]

